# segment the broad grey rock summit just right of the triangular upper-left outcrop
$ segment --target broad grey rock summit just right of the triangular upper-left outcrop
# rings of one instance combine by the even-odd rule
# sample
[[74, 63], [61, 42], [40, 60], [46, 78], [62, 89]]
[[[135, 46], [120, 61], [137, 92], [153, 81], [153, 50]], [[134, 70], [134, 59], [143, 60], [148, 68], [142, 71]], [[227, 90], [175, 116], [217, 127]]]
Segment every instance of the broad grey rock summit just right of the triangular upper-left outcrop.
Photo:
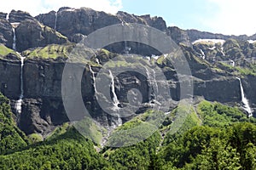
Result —
[[97, 12], [90, 8], [60, 8], [57, 14], [53, 12], [40, 14], [36, 19], [46, 26], [55, 28], [68, 38], [77, 33], [88, 35], [104, 26], [121, 23], [115, 15]]

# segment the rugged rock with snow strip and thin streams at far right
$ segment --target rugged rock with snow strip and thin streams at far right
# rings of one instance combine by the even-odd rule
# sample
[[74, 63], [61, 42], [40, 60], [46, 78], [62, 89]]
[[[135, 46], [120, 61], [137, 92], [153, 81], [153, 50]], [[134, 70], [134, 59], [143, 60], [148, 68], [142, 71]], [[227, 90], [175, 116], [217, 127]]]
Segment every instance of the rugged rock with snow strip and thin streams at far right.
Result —
[[256, 57], [256, 46], [247, 41], [227, 39], [223, 42], [196, 42], [193, 48], [198, 56], [215, 64], [250, 67]]

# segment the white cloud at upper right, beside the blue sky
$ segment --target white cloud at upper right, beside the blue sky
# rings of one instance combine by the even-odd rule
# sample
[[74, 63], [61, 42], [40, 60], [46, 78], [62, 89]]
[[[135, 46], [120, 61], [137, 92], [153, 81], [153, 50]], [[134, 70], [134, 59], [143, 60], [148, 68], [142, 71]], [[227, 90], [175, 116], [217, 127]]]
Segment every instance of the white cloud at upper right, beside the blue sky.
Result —
[[208, 0], [215, 3], [215, 14], [210, 20], [203, 20], [206, 26], [224, 34], [248, 36], [256, 33], [255, 0]]

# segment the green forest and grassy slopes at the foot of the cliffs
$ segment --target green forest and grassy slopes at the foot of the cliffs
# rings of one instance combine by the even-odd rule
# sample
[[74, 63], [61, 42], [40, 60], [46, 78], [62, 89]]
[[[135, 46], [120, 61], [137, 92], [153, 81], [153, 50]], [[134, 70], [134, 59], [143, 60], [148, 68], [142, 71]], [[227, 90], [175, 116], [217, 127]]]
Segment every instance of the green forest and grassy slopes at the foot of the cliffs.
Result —
[[[106, 130], [90, 119], [75, 124], [88, 130], [89, 139], [69, 123], [55, 128], [44, 141], [37, 133], [27, 138], [15, 126], [9, 99], [1, 94], [0, 169], [255, 169], [255, 122], [236, 107], [206, 100], [178, 105], [168, 114], [148, 110], [117, 127], [108, 139], [108, 144], [128, 142], [127, 146], [105, 146], [97, 152], [89, 139], [100, 141]], [[147, 132], [154, 133], [129, 144]]]

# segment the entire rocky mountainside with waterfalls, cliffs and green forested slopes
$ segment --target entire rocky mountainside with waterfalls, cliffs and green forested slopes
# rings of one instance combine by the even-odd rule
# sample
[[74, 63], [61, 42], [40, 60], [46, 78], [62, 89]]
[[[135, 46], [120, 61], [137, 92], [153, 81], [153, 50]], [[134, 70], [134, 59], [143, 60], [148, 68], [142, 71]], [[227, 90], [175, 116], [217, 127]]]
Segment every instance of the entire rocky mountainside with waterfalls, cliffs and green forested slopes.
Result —
[[[84, 46], [131, 23], [176, 50], [148, 30]], [[121, 11], [0, 13], [0, 169], [255, 169], [255, 39]]]

